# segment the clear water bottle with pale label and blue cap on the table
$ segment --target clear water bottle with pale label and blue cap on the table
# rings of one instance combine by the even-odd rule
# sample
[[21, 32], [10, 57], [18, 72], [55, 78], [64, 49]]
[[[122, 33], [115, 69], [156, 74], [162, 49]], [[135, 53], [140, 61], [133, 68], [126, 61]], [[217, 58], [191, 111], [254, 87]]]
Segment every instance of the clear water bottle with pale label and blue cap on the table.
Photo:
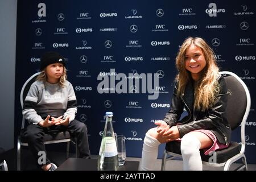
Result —
[[112, 125], [112, 112], [106, 112], [106, 123], [102, 135], [98, 159], [98, 170], [116, 171], [118, 169], [118, 152]]

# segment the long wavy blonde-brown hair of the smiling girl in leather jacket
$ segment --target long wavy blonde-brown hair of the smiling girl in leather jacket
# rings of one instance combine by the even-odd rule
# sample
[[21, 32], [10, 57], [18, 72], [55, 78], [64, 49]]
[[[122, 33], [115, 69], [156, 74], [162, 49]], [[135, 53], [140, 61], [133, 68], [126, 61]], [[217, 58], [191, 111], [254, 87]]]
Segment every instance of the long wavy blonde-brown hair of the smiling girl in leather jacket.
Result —
[[220, 85], [218, 84], [219, 68], [216, 63], [216, 56], [213, 49], [202, 38], [189, 37], [185, 39], [177, 53], [176, 68], [179, 71], [176, 75], [176, 80], [179, 82], [177, 95], [181, 97], [185, 86], [191, 80], [191, 73], [185, 69], [185, 53], [192, 44], [201, 48], [206, 61], [205, 68], [200, 73], [199, 83], [195, 88], [193, 105], [194, 109], [204, 111], [216, 102]]

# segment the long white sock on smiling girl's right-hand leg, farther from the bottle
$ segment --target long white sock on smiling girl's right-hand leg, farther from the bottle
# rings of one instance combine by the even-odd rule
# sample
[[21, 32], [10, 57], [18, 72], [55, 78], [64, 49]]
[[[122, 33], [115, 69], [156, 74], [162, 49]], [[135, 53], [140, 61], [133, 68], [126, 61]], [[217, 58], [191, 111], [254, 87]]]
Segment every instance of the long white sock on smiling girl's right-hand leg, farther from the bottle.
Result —
[[180, 150], [183, 158], [183, 170], [202, 171], [203, 164], [200, 156], [200, 140], [193, 135], [184, 135], [181, 139]]

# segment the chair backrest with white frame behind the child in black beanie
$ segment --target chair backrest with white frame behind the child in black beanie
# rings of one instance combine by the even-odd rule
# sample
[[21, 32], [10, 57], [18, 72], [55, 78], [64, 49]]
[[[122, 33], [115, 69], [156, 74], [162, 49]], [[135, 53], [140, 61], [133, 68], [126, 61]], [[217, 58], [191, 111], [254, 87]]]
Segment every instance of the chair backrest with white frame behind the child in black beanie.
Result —
[[[35, 73], [32, 75], [30, 78], [27, 79], [27, 81], [23, 84], [22, 89], [20, 91], [20, 105], [23, 108], [24, 100], [27, 96], [28, 90], [30, 90], [30, 86], [32, 85], [33, 82], [35, 82], [36, 77], [40, 74], [40, 72]], [[24, 128], [25, 124], [25, 119], [24, 117], [22, 118], [22, 129]]]

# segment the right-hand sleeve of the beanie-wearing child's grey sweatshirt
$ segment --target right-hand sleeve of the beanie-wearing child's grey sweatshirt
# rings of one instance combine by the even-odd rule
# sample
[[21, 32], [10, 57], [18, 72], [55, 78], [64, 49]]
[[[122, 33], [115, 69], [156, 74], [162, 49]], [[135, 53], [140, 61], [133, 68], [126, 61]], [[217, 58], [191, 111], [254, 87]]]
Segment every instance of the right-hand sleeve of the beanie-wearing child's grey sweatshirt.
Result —
[[69, 115], [69, 123], [72, 122], [76, 117], [77, 112], [77, 101], [75, 91], [71, 83], [68, 84], [68, 106], [64, 113], [64, 119]]

